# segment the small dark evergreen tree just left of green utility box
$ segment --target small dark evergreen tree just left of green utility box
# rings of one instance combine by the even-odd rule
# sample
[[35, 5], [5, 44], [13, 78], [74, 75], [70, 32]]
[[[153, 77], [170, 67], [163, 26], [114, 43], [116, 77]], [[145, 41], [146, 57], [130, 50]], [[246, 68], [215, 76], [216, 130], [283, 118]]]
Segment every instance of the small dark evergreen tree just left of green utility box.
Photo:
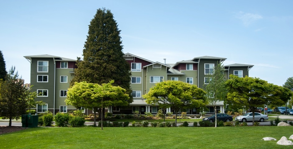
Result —
[[12, 119], [18, 119], [25, 113], [26, 90], [15, 67], [11, 67], [5, 81], [0, 81], [0, 115], [9, 119], [9, 126], [12, 124]]

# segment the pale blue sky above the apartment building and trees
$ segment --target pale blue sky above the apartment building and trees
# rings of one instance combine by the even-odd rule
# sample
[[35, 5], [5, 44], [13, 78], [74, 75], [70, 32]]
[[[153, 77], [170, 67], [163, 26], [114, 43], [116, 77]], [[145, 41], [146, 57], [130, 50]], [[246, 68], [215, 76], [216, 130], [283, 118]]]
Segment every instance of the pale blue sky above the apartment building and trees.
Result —
[[293, 77], [293, 1], [0, 1], [0, 50], [30, 83], [23, 57], [82, 57], [88, 25], [102, 7], [121, 30], [124, 53], [175, 63], [199, 56], [254, 65], [250, 77], [282, 85]]

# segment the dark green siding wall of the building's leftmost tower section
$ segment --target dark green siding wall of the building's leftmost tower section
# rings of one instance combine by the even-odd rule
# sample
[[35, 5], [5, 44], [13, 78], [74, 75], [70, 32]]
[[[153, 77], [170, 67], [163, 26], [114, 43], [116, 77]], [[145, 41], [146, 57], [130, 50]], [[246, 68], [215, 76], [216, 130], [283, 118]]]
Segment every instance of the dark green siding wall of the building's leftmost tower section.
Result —
[[[37, 72], [37, 61], [49, 61], [48, 72]], [[37, 82], [37, 75], [48, 75], [48, 82]], [[31, 84], [32, 92], [37, 92], [37, 89], [48, 90], [48, 97], [37, 97], [38, 101], [43, 101], [48, 104], [48, 110], [54, 108], [55, 97], [55, 64], [53, 58], [32, 58], [31, 60]]]

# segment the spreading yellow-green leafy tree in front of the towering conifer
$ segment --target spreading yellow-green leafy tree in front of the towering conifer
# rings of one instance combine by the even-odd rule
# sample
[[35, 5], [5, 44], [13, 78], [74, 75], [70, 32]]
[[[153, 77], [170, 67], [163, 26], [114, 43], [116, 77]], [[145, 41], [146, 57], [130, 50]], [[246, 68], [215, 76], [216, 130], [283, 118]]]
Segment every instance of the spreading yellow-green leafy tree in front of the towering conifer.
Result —
[[[126, 90], [120, 86], [113, 86], [112, 83], [114, 83], [114, 80], [102, 85], [85, 81], [76, 82], [71, 88], [68, 88], [65, 102], [67, 105], [93, 109], [95, 116], [96, 112], [104, 107], [127, 106], [129, 95]], [[94, 125], [96, 125], [95, 118]]]

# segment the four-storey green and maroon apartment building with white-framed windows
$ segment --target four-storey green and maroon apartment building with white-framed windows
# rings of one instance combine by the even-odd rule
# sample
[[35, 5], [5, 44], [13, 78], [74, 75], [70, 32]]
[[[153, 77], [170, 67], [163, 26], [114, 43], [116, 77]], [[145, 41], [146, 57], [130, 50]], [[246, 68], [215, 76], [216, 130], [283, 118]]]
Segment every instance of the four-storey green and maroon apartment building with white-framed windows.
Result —
[[[31, 85], [32, 91], [41, 93], [37, 100], [46, 102], [46, 105], [37, 105], [37, 113], [45, 111], [68, 112], [76, 110], [76, 107], [66, 105], [66, 92], [71, 79], [74, 77], [76, 60], [51, 55], [24, 56], [31, 63]], [[179, 61], [175, 64], [153, 62], [130, 53], [124, 55], [125, 60], [131, 67], [131, 89], [133, 102], [128, 107], [107, 107], [106, 111], [115, 114], [133, 114], [133, 111], [150, 112], [156, 114], [159, 106], [149, 105], [142, 98], [142, 95], [149, 92], [155, 83], [164, 80], [178, 80], [189, 84], [195, 84], [203, 88], [208, 83], [208, 74], [213, 72], [214, 67], [226, 58], [202, 56], [191, 60]], [[231, 64], [225, 65], [225, 76], [237, 75], [239, 77], [248, 76], [253, 65]], [[213, 114], [212, 105], [207, 105], [207, 114]], [[80, 107], [79, 109], [83, 109]], [[91, 109], [83, 109], [85, 114], [92, 114]], [[217, 102], [216, 110], [225, 111], [223, 102]], [[173, 112], [172, 107], [165, 109], [165, 112]], [[197, 108], [184, 109], [188, 115], [200, 115]]]

